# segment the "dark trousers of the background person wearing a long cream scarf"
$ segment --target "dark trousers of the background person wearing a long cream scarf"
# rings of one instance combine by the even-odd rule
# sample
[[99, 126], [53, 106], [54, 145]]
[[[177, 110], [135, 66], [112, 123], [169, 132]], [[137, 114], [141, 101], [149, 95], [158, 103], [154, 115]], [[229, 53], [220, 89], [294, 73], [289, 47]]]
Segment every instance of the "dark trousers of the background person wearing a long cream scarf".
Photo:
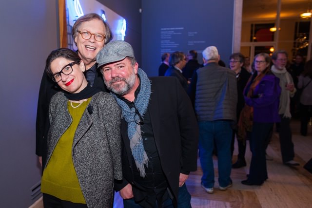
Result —
[[283, 163], [293, 160], [294, 151], [292, 143], [292, 130], [290, 126], [291, 119], [284, 118], [283, 114], [280, 114], [281, 122], [279, 125], [279, 142], [281, 145], [281, 154]]

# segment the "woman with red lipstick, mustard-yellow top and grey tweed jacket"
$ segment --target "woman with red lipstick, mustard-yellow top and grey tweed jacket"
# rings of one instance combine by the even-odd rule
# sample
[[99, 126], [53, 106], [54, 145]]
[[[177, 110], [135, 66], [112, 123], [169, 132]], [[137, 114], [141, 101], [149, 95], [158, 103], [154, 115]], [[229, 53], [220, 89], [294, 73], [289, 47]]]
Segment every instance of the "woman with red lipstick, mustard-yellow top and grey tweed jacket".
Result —
[[90, 86], [85, 64], [72, 50], [52, 51], [45, 70], [62, 92], [49, 107], [43, 205], [112, 207], [114, 179], [122, 179], [120, 108], [110, 94]]

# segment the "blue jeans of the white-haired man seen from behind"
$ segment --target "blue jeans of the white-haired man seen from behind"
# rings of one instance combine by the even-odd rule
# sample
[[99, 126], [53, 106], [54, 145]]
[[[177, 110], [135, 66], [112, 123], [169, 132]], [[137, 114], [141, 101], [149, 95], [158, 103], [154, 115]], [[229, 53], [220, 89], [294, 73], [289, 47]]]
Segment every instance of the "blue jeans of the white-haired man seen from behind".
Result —
[[213, 151], [218, 153], [219, 186], [227, 187], [231, 183], [231, 140], [233, 129], [231, 121], [199, 121], [199, 160], [203, 170], [201, 182], [206, 188], [215, 185]]

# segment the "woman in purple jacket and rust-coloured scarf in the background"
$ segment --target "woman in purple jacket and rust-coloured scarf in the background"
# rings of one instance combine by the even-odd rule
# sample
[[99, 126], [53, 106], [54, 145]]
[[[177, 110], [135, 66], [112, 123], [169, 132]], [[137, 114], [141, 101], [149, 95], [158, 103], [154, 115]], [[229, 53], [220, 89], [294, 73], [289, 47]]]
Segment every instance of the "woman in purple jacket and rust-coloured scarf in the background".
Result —
[[254, 57], [255, 73], [244, 89], [245, 106], [239, 119], [240, 132], [251, 130], [252, 160], [244, 185], [262, 185], [268, 179], [265, 150], [278, 115], [279, 79], [270, 70], [271, 58], [266, 53]]

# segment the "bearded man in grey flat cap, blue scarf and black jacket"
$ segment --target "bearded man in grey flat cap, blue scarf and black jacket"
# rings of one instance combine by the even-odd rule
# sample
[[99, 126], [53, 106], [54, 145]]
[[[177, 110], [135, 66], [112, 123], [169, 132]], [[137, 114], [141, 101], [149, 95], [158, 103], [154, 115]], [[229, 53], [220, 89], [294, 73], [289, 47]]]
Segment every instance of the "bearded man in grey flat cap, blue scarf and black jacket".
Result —
[[124, 41], [108, 43], [97, 62], [122, 109], [123, 180], [115, 189], [124, 207], [190, 208], [185, 181], [197, 168], [198, 127], [181, 84], [148, 78]]

